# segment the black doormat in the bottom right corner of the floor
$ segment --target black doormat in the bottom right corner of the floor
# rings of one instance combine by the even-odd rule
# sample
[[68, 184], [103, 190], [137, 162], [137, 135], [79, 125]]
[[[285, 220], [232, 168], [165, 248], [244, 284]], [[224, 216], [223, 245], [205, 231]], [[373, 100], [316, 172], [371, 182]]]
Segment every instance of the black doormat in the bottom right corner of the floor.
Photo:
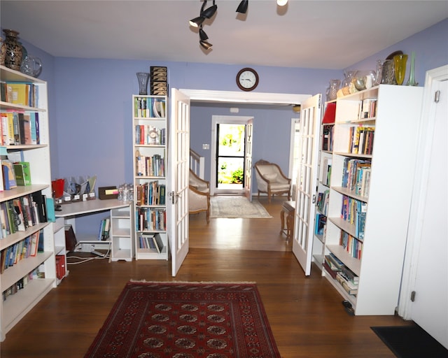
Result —
[[448, 358], [448, 350], [419, 325], [370, 327], [398, 358]]

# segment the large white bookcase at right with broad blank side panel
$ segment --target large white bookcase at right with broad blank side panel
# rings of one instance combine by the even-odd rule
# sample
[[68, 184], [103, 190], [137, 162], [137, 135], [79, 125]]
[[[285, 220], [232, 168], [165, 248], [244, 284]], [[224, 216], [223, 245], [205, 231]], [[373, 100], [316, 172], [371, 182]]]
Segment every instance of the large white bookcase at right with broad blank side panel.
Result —
[[[332, 253], [358, 276], [357, 294], [322, 272], [355, 315], [393, 315], [398, 305], [422, 94], [421, 87], [379, 85], [337, 99], [325, 255]], [[374, 129], [371, 154], [351, 150], [352, 131], [360, 127]], [[365, 194], [343, 185], [344, 163], [351, 159], [371, 163]], [[365, 211], [363, 235], [342, 218], [344, 200]], [[356, 217], [356, 210], [351, 214]], [[351, 236], [346, 248], [342, 235]]]

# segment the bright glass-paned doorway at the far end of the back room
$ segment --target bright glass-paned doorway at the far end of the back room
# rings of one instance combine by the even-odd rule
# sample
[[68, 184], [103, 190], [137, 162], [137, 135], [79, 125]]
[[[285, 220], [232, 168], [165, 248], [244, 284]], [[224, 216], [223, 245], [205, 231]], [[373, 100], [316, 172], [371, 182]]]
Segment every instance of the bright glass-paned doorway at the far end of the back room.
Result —
[[[249, 126], [253, 117], [214, 115], [211, 124], [210, 194], [244, 195], [250, 188], [251, 176], [246, 168], [251, 163]], [[247, 178], [248, 177], [248, 178]]]

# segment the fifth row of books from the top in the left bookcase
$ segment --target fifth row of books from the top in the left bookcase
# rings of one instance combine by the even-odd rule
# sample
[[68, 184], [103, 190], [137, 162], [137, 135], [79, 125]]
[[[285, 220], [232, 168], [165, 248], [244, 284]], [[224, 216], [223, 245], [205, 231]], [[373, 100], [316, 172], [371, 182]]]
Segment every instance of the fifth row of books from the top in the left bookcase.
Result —
[[18, 243], [1, 250], [0, 273], [3, 273], [8, 267], [18, 264], [23, 259], [36, 256], [38, 251], [43, 251], [42, 230], [38, 230]]

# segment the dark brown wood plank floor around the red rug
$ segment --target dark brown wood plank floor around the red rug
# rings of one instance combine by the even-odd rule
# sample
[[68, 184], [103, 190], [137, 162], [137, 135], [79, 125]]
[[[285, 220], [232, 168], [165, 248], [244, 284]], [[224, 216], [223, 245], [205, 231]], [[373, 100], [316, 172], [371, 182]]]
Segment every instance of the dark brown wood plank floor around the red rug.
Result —
[[283, 200], [268, 204], [260, 198], [270, 219], [207, 224], [203, 213], [191, 215], [190, 252], [176, 278], [166, 261], [92, 259], [70, 265], [61, 285], [8, 332], [1, 358], [83, 357], [130, 279], [255, 281], [283, 358], [395, 357], [370, 327], [409, 322], [397, 316], [350, 316], [318, 268], [305, 278], [291, 243], [279, 234]]

